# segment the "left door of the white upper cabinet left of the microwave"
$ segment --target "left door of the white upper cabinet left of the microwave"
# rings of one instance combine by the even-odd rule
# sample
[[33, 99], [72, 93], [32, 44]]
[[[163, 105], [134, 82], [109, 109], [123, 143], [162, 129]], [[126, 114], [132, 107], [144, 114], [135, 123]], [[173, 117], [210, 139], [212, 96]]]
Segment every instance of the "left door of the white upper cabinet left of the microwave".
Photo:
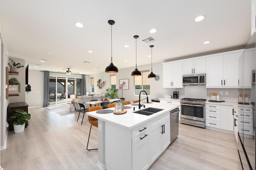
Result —
[[172, 86], [172, 63], [163, 64], [163, 88]]

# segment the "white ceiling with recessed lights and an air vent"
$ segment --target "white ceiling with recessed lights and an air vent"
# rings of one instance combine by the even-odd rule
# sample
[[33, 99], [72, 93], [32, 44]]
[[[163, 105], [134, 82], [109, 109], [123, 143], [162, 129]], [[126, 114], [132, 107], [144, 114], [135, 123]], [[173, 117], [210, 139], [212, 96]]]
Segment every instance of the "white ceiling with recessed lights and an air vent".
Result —
[[[151, 62], [149, 45], [155, 46], [153, 63], [246, 45], [250, 4], [251, 0], [0, 0], [1, 33], [9, 57], [25, 59], [30, 69], [65, 72], [71, 68], [72, 72], [94, 74], [104, 72], [110, 64], [111, 27], [107, 21], [114, 20], [114, 65], [135, 67], [133, 36], [139, 35], [140, 70], [140, 65]], [[199, 15], [206, 18], [195, 22]], [[76, 22], [84, 27], [76, 27]], [[150, 33], [152, 28], [157, 32]], [[140, 41], [150, 36], [156, 41]], [[205, 45], [204, 41], [211, 43]], [[40, 59], [48, 61], [41, 63]]]

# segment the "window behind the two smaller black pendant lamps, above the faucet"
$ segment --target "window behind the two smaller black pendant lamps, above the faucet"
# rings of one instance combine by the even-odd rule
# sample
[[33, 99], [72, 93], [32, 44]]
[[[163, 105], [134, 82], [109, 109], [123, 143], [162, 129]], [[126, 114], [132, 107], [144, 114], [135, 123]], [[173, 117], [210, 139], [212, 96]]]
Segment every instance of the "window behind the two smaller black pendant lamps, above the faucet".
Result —
[[[134, 95], [139, 95], [141, 90], [145, 90], [150, 95], [150, 70], [141, 71], [141, 76], [134, 76]], [[142, 95], [146, 95], [144, 92]]]

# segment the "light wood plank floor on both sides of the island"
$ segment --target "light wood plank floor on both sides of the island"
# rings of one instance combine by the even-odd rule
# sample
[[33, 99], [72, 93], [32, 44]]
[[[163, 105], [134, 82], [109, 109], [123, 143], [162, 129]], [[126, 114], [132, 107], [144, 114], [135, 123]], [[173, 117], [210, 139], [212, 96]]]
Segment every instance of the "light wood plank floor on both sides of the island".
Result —
[[[30, 125], [23, 133], [10, 131], [1, 151], [4, 170], [98, 170], [98, 151], [87, 151], [90, 123], [78, 112], [60, 116], [48, 108], [31, 108]], [[90, 148], [98, 145], [92, 127]], [[154, 162], [150, 170], [240, 169], [234, 135], [180, 124], [179, 138]]]

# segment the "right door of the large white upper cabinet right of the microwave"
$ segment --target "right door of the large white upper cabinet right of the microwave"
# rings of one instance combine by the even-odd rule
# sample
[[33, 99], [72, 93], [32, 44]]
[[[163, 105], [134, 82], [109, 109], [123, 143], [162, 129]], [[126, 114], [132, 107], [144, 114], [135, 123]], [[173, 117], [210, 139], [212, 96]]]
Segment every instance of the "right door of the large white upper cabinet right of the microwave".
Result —
[[223, 57], [224, 87], [238, 87], [238, 59], [240, 53], [225, 54]]

